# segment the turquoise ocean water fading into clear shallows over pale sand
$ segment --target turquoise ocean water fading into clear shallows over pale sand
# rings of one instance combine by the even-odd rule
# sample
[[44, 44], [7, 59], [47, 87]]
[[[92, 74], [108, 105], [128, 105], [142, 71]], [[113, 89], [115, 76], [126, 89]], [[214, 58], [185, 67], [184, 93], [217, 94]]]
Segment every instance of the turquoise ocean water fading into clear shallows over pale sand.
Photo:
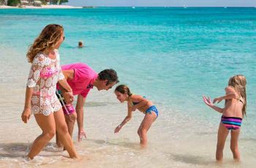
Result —
[[[151, 99], [159, 118], [148, 131], [148, 148], [137, 134], [143, 115], [118, 134], [126, 105], [111, 91], [91, 91], [86, 100], [87, 140], [73, 140], [82, 161], [65, 158], [54, 140], [34, 161], [23, 156], [40, 130], [23, 124], [26, 50], [44, 26], [64, 26], [61, 64], [83, 62], [97, 72], [113, 68], [133, 93]], [[86, 47], [78, 48], [83, 40]], [[0, 9], [0, 167], [252, 167], [256, 164], [256, 8]], [[246, 76], [247, 117], [241, 127], [242, 162], [215, 164], [220, 114], [202, 94], [225, 94], [229, 77]], [[219, 106], [223, 106], [220, 103]], [[170, 166], [172, 165], [172, 166]]]

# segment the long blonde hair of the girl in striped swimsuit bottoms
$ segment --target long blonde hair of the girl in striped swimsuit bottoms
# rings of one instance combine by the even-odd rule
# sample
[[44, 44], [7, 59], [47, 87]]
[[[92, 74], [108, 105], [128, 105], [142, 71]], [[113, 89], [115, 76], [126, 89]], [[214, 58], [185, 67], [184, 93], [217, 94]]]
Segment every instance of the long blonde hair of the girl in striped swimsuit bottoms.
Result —
[[236, 92], [244, 99], [244, 106], [242, 109], [243, 118], [246, 116], [246, 78], [244, 75], [235, 75], [230, 77], [228, 85], [235, 88]]

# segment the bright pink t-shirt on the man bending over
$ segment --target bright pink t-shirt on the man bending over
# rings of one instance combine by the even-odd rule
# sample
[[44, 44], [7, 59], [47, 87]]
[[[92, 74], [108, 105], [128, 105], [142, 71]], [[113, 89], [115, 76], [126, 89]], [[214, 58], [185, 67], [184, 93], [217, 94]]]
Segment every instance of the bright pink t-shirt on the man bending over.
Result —
[[[61, 69], [62, 71], [74, 69], [74, 78], [72, 80], [67, 80], [67, 83], [69, 83], [72, 88], [74, 95], [80, 94], [86, 98], [91, 88], [94, 87], [93, 83], [98, 77], [97, 72], [83, 63], [67, 64], [61, 66]], [[59, 89], [59, 84], [57, 84], [57, 89]]]

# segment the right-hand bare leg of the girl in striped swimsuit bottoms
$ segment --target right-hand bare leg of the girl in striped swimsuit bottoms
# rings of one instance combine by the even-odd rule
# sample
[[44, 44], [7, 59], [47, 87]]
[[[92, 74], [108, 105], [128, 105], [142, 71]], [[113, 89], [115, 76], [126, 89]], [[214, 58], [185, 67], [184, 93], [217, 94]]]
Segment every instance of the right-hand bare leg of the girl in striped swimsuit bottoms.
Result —
[[240, 161], [240, 153], [238, 151], [238, 137], [240, 134], [240, 129], [231, 131], [230, 149], [233, 153], [233, 158], [236, 161]]

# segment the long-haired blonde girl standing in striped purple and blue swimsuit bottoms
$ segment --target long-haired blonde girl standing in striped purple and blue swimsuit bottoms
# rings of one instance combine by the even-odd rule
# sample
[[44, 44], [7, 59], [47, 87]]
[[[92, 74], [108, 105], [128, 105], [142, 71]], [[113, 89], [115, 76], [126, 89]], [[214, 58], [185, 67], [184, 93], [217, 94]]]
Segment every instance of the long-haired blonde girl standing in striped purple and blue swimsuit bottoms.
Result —
[[[230, 77], [225, 91], [225, 96], [217, 97], [213, 102], [211, 102], [210, 97], [203, 96], [203, 102], [217, 112], [222, 113], [221, 122], [219, 123], [216, 160], [222, 161], [225, 141], [231, 130], [230, 149], [233, 153], [233, 159], [239, 161], [238, 137], [242, 118], [246, 115], [246, 78], [243, 75]], [[214, 105], [215, 102], [219, 103], [222, 100], [225, 100], [224, 108]]]

